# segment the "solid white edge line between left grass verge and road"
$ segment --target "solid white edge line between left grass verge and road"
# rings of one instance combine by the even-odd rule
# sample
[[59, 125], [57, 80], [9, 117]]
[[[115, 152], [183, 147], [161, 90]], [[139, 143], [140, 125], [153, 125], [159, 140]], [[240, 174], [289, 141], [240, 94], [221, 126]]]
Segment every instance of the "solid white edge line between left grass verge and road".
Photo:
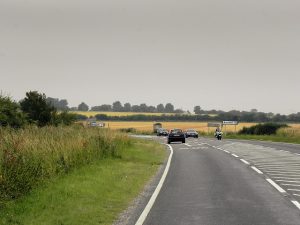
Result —
[[160, 178], [160, 181], [155, 189], [155, 191], [153, 192], [148, 204], [146, 205], [144, 211], [142, 212], [142, 214], [140, 215], [139, 219], [137, 220], [137, 222], [135, 223], [135, 225], [142, 225], [144, 222], [145, 222], [145, 219], [147, 218], [152, 206], [154, 205], [154, 202], [165, 182], [165, 179], [167, 177], [167, 174], [169, 172], [169, 169], [170, 169], [170, 165], [171, 165], [171, 161], [172, 161], [172, 156], [173, 156], [173, 148], [171, 145], [167, 145], [170, 149], [170, 156], [169, 156], [169, 159], [168, 159], [168, 162], [167, 162], [167, 165], [166, 165], [166, 168], [165, 168], [165, 171], [162, 175], [162, 177]]

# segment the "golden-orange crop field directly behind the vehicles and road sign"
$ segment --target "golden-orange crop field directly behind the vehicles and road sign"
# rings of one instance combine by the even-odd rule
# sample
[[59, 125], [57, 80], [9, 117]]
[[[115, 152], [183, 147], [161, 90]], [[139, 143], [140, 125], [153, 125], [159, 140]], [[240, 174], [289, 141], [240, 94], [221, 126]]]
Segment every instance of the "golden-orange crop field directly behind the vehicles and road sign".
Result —
[[[207, 127], [207, 122], [161, 122], [163, 128], [166, 129], [195, 129], [201, 132], [214, 132], [215, 128]], [[241, 130], [243, 127], [250, 127], [255, 125], [256, 123], [240, 123], [236, 127], [236, 131]], [[152, 131], [153, 130], [153, 122], [123, 122], [123, 121], [109, 121], [106, 122], [106, 127], [111, 129], [121, 129], [121, 128], [134, 128], [138, 131]], [[225, 131], [225, 126], [223, 127], [223, 131]], [[235, 126], [226, 126], [226, 131], [235, 131]]]

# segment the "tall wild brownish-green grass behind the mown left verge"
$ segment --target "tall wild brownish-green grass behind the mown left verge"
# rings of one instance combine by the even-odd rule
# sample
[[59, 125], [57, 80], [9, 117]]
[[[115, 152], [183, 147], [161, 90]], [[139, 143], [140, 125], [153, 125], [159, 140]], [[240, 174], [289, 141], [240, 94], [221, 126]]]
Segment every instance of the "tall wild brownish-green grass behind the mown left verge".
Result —
[[0, 129], [0, 201], [97, 159], [121, 157], [129, 145], [126, 135], [99, 128]]

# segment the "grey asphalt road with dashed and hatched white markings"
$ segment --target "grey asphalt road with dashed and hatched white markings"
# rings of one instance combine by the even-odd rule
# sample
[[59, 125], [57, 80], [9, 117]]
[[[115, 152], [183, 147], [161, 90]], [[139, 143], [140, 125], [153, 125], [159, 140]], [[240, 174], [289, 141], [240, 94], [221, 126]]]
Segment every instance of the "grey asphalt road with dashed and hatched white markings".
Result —
[[171, 146], [171, 167], [145, 225], [300, 224], [293, 193], [280, 193], [266, 180], [272, 174], [251, 168], [266, 163], [277, 171], [276, 165], [284, 170], [291, 163], [300, 179], [300, 156], [257, 143], [204, 138]]

